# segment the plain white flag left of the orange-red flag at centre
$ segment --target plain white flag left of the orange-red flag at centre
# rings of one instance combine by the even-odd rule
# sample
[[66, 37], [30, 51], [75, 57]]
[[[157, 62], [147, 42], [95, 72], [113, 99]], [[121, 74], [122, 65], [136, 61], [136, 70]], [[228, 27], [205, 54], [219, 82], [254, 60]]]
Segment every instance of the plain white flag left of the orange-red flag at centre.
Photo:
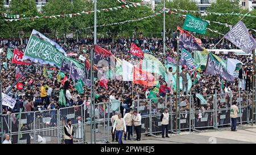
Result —
[[123, 59], [123, 81], [133, 81], [133, 64]]

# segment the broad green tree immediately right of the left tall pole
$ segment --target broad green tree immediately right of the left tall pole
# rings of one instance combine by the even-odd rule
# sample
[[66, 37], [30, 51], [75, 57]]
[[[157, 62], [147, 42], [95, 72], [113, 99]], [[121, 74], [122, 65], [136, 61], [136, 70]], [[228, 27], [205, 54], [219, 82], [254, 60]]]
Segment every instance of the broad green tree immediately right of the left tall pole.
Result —
[[[133, 0], [132, 2], [141, 2], [141, 1]], [[117, 7], [122, 5], [123, 4], [118, 3], [118, 1], [111, 1], [111, 0], [97, 2], [97, 6], [99, 9]], [[152, 11], [150, 8], [145, 6], [141, 6], [141, 7], [129, 6], [129, 8], [122, 8], [118, 10], [113, 9], [113, 11], [112, 10], [101, 11], [100, 13], [97, 13], [97, 19], [98, 19], [97, 25], [119, 23], [121, 21], [138, 19], [148, 15], [152, 15]], [[113, 42], [115, 36], [117, 36], [119, 32], [127, 32], [131, 34], [133, 32], [138, 33], [142, 31], [145, 26], [144, 24], [147, 24], [147, 25], [150, 24], [148, 22], [144, 23], [145, 21], [147, 22], [148, 20], [141, 20], [141, 21], [138, 21], [135, 23], [129, 23], [129, 24], [110, 25], [110, 26], [98, 28], [98, 30], [99, 32], [108, 32], [112, 37], [112, 42]]]

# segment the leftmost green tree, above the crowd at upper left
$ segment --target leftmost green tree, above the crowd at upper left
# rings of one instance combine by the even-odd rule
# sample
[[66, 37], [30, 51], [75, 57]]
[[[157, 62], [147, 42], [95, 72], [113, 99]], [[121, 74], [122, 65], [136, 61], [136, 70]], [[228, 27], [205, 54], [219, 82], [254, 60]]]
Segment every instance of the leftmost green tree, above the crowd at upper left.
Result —
[[[34, 0], [12, 0], [10, 3], [10, 13], [14, 15], [25, 15], [32, 17], [38, 15]], [[10, 24], [13, 32], [19, 32], [20, 45], [23, 44], [23, 37], [26, 32], [31, 32], [35, 26], [35, 22], [30, 19], [12, 21]]]

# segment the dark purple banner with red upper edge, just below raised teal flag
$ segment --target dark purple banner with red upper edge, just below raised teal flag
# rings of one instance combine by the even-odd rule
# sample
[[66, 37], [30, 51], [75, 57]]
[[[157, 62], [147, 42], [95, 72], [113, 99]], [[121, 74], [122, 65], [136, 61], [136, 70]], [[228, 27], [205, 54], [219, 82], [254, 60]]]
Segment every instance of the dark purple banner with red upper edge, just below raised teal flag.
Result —
[[185, 31], [184, 29], [177, 27], [177, 29], [180, 31], [180, 48], [184, 48], [188, 51], [193, 50], [200, 50], [203, 51], [204, 49], [199, 44], [201, 41], [199, 38], [194, 37], [189, 32]]

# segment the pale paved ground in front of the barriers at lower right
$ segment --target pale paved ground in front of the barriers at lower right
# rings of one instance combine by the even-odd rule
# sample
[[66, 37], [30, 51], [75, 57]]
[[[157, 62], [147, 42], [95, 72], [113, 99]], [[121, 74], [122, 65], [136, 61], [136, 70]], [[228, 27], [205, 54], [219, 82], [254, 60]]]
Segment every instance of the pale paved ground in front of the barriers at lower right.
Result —
[[[181, 132], [180, 135], [172, 134], [170, 138], [162, 136], [142, 136], [141, 141], [127, 140], [129, 144], [249, 144], [256, 143], [256, 126], [238, 126], [236, 132], [229, 131], [229, 127], [220, 130], [205, 130], [201, 132]], [[115, 143], [115, 142], [114, 142]]]

